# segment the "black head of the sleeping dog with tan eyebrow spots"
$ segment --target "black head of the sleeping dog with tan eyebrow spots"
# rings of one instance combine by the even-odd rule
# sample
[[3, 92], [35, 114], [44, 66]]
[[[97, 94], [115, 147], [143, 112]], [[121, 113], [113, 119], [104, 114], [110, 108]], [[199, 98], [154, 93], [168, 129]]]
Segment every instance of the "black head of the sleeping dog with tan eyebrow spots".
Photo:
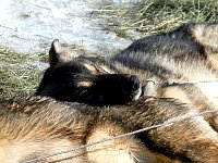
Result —
[[141, 80], [135, 75], [109, 74], [88, 58], [71, 58], [58, 40], [51, 45], [49, 63], [37, 96], [109, 105], [136, 100], [142, 93]]

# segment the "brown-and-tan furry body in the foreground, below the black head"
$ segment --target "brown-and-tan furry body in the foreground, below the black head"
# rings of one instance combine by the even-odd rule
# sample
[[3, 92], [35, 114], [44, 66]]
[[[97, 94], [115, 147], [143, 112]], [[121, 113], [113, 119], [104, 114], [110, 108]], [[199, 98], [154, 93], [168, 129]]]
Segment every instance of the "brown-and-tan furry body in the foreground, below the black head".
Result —
[[[141, 99], [126, 105], [92, 108], [28, 98], [0, 103], [0, 161], [28, 161], [111, 138], [165, 121], [189, 116], [192, 110], [170, 99]], [[179, 128], [179, 129], [178, 129]], [[150, 145], [155, 148], [149, 149]], [[156, 151], [171, 151], [172, 158]], [[199, 163], [218, 159], [218, 138], [202, 117], [173, 126], [45, 159], [44, 162], [179, 163], [181, 158]]]

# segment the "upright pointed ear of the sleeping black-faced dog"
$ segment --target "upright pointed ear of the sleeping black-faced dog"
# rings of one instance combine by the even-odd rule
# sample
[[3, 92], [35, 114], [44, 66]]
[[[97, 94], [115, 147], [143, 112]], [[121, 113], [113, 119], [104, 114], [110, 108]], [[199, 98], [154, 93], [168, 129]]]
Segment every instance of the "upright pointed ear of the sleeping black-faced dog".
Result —
[[62, 47], [59, 42], [59, 39], [55, 39], [51, 43], [51, 48], [49, 50], [49, 64], [50, 66], [55, 66], [59, 63], [65, 63], [71, 60], [70, 51]]

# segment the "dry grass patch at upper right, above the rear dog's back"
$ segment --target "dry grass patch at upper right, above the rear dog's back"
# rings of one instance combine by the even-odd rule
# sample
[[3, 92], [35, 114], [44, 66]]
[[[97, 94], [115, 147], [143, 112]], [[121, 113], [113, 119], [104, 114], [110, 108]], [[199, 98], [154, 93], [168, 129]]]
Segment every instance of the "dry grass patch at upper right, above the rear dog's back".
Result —
[[144, 0], [133, 8], [105, 5], [96, 11], [107, 16], [110, 26], [106, 29], [128, 37], [128, 30], [137, 30], [144, 36], [170, 30], [186, 22], [216, 22], [217, 0]]

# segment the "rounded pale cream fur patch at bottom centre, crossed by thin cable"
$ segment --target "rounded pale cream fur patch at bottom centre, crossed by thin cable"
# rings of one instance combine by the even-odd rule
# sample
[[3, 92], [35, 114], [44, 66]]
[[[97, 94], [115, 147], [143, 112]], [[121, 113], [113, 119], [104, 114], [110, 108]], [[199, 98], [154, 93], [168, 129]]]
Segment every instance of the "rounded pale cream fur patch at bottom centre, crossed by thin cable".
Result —
[[[98, 126], [92, 133], [92, 136], [88, 138], [88, 142], [95, 142], [98, 140], [110, 138], [123, 133], [123, 128], [119, 128], [117, 125], [104, 124]], [[111, 140], [104, 142], [94, 147], [87, 148], [87, 155], [94, 162], [101, 162], [102, 155], [105, 163], [110, 162], [125, 162], [131, 163], [138, 160], [138, 162], [156, 162], [156, 159], [153, 154], [142, 145], [142, 142], [134, 137], [125, 137], [122, 139]], [[119, 156], [118, 156], [119, 155]]]

